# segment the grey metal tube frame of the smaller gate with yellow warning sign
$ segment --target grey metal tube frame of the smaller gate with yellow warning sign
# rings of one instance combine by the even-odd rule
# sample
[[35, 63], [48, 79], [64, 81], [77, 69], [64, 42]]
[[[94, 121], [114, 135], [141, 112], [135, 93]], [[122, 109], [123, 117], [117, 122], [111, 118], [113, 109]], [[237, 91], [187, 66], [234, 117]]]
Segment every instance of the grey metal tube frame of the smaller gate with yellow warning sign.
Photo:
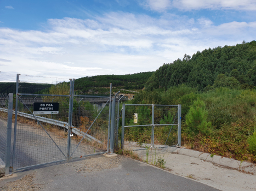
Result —
[[[145, 124], [145, 125], [137, 125], [137, 126], [124, 126], [124, 120], [126, 116], [126, 106], [152, 106], [152, 123], [151, 124]], [[178, 106], [178, 124], [154, 124], [155, 123], [155, 106]], [[147, 127], [151, 126], [151, 147], [154, 147], [154, 132], [155, 132], [155, 126], [174, 126], [178, 125], [178, 144], [173, 146], [165, 146], [165, 147], [177, 147], [181, 146], [181, 105], [158, 105], [158, 104], [123, 104], [122, 108], [122, 137], [121, 137], [121, 149], [123, 149], [124, 146], [124, 128], [125, 127]], [[151, 148], [150, 147], [150, 148]], [[165, 148], [164, 147], [164, 148]], [[144, 149], [140, 149], [144, 150]], [[146, 148], [145, 148], [146, 150]]]

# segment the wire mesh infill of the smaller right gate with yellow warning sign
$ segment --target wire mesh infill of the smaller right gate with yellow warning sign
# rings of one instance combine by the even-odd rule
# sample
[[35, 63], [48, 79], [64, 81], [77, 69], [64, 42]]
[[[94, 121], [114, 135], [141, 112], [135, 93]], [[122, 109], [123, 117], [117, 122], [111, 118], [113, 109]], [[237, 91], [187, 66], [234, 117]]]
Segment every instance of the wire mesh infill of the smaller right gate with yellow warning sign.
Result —
[[133, 127], [124, 128], [123, 149], [147, 163], [156, 163], [161, 154], [178, 144], [178, 106], [126, 105], [124, 126]]

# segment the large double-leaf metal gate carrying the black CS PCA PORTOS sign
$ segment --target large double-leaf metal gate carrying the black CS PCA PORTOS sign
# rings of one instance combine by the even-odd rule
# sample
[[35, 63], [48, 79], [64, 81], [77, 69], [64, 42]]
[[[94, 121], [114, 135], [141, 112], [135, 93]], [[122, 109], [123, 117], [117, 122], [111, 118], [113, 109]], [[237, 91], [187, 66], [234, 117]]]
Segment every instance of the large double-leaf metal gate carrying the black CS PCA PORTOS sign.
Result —
[[[74, 83], [69, 95], [20, 93], [17, 74], [10, 172], [109, 151], [111, 91], [110, 97], [75, 95]], [[58, 112], [33, 111], [45, 103], [58, 103]]]

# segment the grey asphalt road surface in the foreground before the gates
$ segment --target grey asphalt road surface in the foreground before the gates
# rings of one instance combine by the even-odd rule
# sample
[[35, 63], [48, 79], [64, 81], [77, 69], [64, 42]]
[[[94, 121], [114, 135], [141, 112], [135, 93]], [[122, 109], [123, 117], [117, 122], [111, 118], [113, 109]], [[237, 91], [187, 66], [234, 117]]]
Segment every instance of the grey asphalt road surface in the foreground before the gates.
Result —
[[[91, 158], [99, 160], [100, 165], [104, 165], [101, 162], [105, 159], [104, 156]], [[218, 190], [125, 157], [113, 168], [97, 170], [99, 165], [96, 165], [94, 170], [78, 173], [86, 160], [89, 159], [16, 172], [16, 177], [0, 181], [0, 187], [4, 188], [10, 181], [15, 185], [15, 180], [33, 173], [33, 185], [39, 185], [40, 190]]]

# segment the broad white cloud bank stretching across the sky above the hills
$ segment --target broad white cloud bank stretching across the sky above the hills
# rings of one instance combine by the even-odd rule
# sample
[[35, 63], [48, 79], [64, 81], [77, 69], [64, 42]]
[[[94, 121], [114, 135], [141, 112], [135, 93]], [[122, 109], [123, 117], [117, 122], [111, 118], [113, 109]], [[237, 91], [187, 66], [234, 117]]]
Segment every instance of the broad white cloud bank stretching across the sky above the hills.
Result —
[[251, 41], [255, 28], [256, 22], [214, 26], [207, 18], [167, 13], [160, 19], [123, 12], [49, 19], [45, 31], [0, 28], [0, 58], [12, 60], [1, 71], [66, 79], [154, 71], [185, 53]]

